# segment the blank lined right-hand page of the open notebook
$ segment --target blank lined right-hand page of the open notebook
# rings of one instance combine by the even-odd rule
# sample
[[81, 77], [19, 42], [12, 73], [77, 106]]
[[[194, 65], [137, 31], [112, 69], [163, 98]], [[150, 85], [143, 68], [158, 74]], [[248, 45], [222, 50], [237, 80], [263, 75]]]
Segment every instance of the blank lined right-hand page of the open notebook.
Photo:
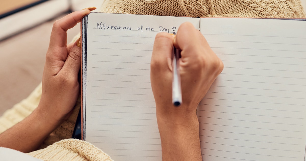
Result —
[[224, 63], [198, 107], [205, 161], [303, 161], [306, 23], [203, 18]]

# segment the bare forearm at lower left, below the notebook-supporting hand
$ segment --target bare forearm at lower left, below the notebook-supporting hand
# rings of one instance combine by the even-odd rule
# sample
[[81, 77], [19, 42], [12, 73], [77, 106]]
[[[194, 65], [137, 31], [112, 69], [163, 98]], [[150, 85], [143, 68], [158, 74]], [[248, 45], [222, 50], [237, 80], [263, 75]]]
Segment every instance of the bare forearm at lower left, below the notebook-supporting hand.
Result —
[[1, 133], [0, 147], [25, 153], [36, 150], [59, 124], [43, 113], [37, 108], [27, 118]]

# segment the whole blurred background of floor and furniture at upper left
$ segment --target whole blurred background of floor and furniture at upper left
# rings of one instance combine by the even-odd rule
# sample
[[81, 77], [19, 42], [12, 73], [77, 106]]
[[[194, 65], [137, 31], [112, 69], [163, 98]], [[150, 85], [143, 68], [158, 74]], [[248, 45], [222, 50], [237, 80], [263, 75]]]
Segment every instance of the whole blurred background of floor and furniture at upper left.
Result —
[[[301, 0], [306, 11], [306, 0]], [[0, 0], [0, 116], [41, 82], [53, 22], [104, 0]], [[80, 24], [68, 30], [68, 43]]]

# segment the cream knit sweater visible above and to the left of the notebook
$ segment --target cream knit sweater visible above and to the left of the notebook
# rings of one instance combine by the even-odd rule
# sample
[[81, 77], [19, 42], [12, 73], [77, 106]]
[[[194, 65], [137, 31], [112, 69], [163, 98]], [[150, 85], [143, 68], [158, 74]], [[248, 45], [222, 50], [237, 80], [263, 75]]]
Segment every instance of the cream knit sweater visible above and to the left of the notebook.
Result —
[[[190, 17], [305, 17], [299, 0], [105, 0], [100, 12]], [[0, 133], [31, 114], [40, 96], [41, 84], [28, 98], [7, 110], [0, 118]], [[80, 97], [70, 118], [46, 138], [39, 150], [28, 154], [42, 160], [111, 161], [94, 145], [69, 139], [79, 109]]]

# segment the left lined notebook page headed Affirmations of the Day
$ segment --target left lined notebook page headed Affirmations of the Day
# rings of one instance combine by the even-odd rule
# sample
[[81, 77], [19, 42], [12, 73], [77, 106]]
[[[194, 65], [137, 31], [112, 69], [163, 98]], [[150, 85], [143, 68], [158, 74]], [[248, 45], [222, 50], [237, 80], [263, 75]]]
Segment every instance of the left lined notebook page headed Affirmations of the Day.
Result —
[[150, 84], [155, 35], [199, 18], [90, 13], [87, 34], [86, 135], [112, 159], [162, 160]]

